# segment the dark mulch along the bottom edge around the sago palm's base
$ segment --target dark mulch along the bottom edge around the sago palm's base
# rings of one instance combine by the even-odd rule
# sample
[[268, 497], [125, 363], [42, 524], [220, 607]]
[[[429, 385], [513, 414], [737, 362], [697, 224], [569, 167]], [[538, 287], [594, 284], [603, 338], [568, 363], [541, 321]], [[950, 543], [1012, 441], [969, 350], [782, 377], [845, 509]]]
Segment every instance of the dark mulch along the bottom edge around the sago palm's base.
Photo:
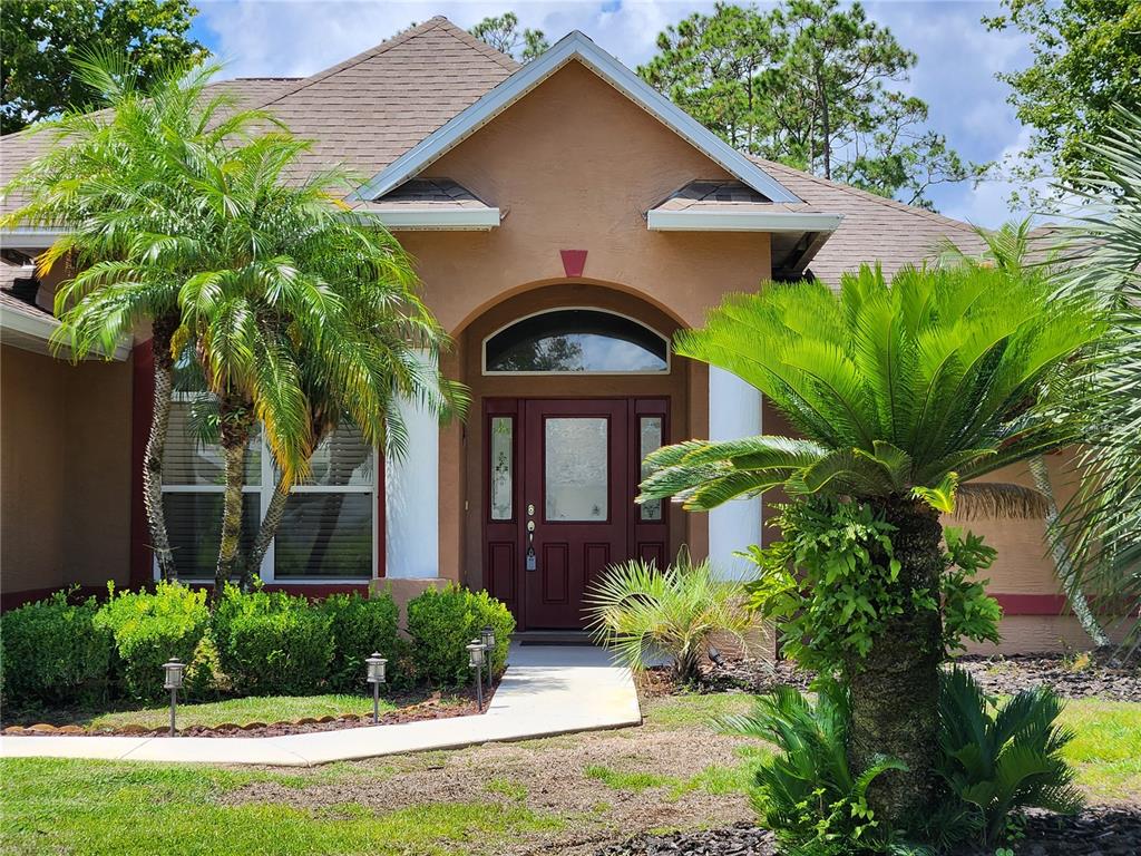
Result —
[[[1026, 814], [1025, 837], [1008, 845], [1018, 856], [1136, 856], [1141, 810], [1091, 806], [1074, 817]], [[776, 838], [751, 824], [667, 835], [641, 834], [597, 850], [597, 856], [778, 856]], [[994, 849], [957, 849], [948, 856], [993, 856]]]

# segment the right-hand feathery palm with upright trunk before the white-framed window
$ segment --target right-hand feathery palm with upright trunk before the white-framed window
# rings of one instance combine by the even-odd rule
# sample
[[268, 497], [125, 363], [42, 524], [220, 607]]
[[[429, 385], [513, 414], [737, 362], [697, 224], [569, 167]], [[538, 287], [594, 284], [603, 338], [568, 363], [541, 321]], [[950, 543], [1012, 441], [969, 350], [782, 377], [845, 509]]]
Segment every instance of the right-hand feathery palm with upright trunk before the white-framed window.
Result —
[[355, 186], [343, 172], [286, 180], [309, 146], [270, 132], [202, 164], [188, 179], [200, 231], [132, 245], [155, 266], [195, 272], [179, 291], [176, 339], [194, 344], [218, 401], [226, 477], [216, 597], [238, 559], [243, 458], [258, 422], [284, 494], [341, 414], [382, 439], [394, 396], [445, 395], [415, 361], [446, 337], [399, 244], [339, 202]]

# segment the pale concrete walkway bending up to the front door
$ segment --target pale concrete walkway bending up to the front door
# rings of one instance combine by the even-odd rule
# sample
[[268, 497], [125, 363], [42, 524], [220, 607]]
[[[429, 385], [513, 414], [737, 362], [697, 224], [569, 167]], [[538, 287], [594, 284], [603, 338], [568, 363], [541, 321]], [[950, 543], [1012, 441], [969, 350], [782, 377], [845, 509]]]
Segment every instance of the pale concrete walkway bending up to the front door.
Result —
[[5, 735], [0, 757], [309, 766], [641, 724], [630, 671], [600, 648], [512, 645], [508, 665], [483, 716], [284, 737]]

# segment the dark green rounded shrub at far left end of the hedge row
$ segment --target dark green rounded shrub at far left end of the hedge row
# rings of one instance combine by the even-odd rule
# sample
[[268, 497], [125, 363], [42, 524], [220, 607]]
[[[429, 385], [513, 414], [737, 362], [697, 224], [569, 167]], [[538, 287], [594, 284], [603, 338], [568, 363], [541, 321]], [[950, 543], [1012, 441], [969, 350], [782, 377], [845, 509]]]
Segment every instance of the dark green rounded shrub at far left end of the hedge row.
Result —
[[3, 700], [8, 706], [91, 702], [107, 692], [111, 633], [97, 627], [95, 598], [57, 591], [0, 619]]

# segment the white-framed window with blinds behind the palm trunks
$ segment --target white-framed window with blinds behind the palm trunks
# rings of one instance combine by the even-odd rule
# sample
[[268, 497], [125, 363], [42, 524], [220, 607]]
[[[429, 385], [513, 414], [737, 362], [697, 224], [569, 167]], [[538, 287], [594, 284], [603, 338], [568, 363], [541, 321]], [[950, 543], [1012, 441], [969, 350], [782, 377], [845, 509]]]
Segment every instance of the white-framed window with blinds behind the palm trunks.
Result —
[[[163, 508], [179, 575], [213, 579], [225, 467], [217, 445], [199, 442], [195, 401], [176, 394], [163, 458]], [[248, 554], [273, 499], [277, 473], [261, 437], [245, 458], [242, 552]], [[377, 527], [375, 454], [351, 427], [314, 452], [309, 478], [293, 486], [277, 535], [259, 571], [267, 582], [367, 580]]]

